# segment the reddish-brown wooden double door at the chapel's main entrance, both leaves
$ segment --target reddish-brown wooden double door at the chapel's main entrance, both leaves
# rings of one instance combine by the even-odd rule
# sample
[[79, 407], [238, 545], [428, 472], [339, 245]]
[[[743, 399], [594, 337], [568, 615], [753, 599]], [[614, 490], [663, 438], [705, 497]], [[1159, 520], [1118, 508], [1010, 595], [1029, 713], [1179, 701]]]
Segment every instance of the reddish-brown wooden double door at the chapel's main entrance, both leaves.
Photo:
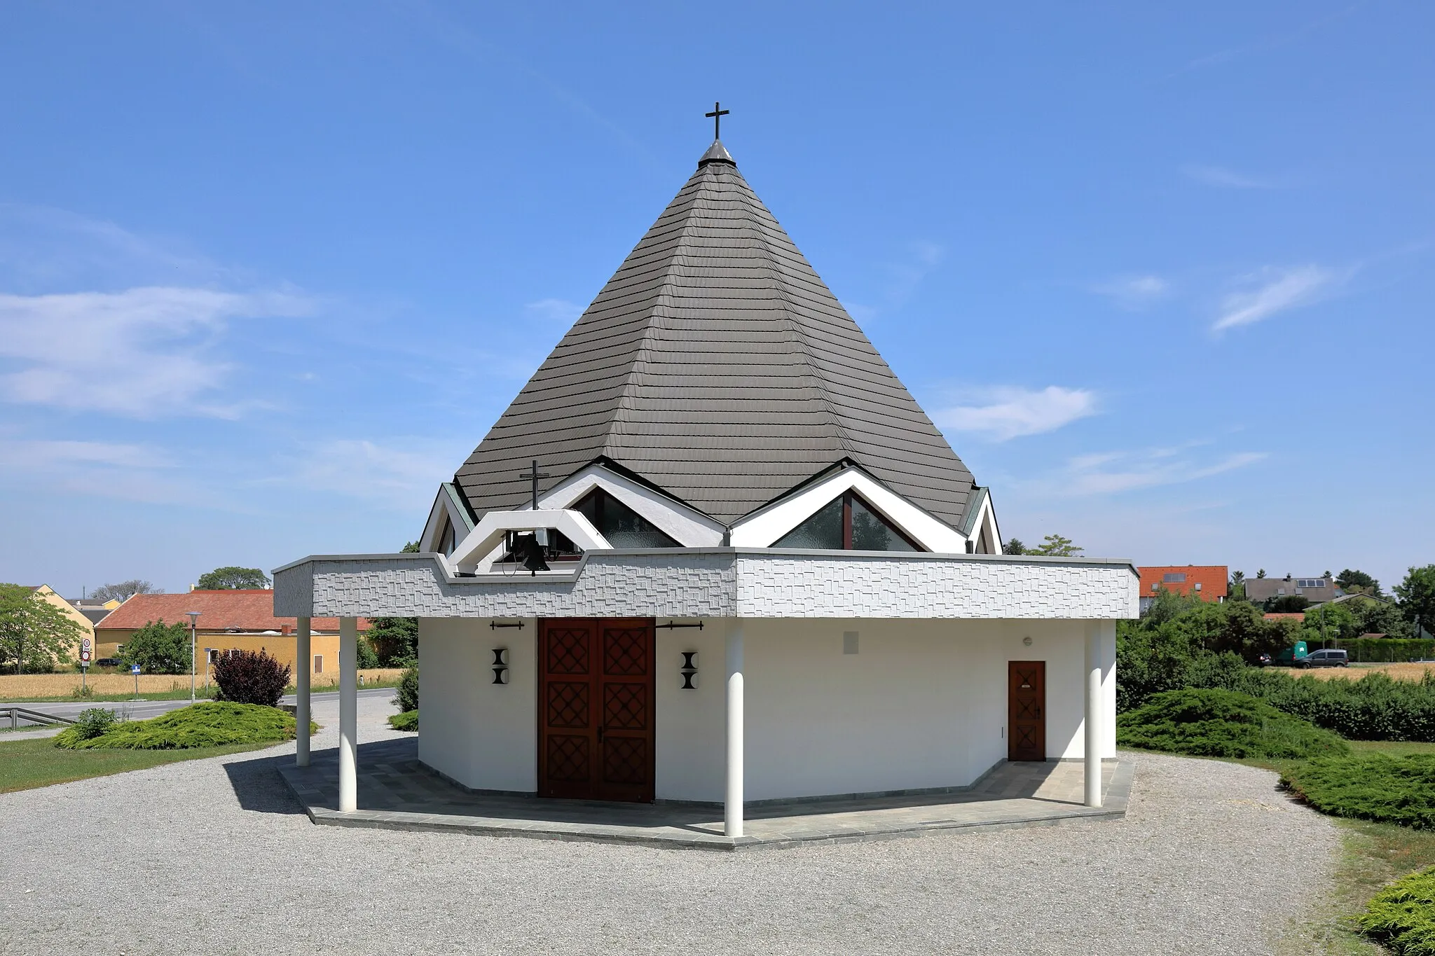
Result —
[[538, 622], [538, 795], [653, 800], [651, 618]]

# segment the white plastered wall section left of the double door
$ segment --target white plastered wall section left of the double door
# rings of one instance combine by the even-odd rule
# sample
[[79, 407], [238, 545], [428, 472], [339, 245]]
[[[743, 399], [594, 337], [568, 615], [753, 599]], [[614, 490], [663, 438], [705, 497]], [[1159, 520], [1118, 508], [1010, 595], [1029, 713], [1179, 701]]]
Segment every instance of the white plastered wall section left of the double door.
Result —
[[[419, 619], [419, 760], [475, 790], [538, 790], [538, 655], [532, 619]], [[494, 684], [508, 648], [508, 684]]]

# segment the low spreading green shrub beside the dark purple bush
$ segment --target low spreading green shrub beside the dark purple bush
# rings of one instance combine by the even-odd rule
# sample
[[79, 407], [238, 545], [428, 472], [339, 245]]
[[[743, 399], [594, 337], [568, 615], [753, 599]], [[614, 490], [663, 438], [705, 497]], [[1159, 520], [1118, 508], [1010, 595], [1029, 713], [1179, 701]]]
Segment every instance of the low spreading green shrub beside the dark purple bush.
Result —
[[278, 708], [205, 701], [148, 721], [119, 722], [95, 737], [85, 737], [75, 725], [60, 731], [55, 745], [67, 750], [189, 750], [267, 744], [293, 737], [294, 718]]

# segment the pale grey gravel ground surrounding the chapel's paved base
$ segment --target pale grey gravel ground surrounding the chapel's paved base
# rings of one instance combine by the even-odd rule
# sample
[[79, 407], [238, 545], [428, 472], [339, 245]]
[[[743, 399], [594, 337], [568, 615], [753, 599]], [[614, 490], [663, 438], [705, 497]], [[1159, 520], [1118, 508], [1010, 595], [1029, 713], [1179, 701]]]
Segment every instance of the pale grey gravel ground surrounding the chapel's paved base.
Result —
[[[333, 745], [336, 707], [316, 707]], [[390, 735], [360, 704], [360, 740]], [[3, 953], [1269, 953], [1335, 827], [1139, 761], [1122, 823], [743, 854], [316, 827], [293, 745], [0, 794]]]

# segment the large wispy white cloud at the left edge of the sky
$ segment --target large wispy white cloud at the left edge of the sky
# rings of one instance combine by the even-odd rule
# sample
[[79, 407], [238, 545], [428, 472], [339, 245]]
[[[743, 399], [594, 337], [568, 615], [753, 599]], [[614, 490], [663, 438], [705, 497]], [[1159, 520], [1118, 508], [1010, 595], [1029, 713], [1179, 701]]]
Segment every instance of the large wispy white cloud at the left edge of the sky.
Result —
[[214, 343], [232, 318], [297, 317], [294, 292], [142, 287], [122, 292], [0, 295], [0, 397], [133, 417], [232, 417], [199, 401], [232, 365]]

